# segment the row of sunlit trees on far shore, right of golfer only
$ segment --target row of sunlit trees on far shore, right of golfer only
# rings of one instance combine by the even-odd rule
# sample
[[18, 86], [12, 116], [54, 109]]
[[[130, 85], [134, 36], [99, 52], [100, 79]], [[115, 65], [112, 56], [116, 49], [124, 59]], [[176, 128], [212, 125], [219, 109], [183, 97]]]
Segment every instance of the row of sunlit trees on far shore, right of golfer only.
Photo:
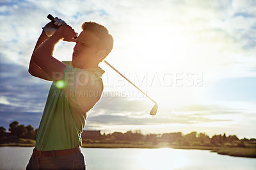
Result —
[[228, 135], [224, 133], [223, 135], [213, 135], [209, 137], [209, 135], [205, 133], [191, 132], [189, 134], [182, 134], [182, 132], [173, 132], [173, 133], [165, 133], [165, 134], [141, 134], [140, 130], [135, 130], [134, 132], [127, 131], [125, 133], [114, 132], [112, 134], [104, 134], [98, 139], [105, 139], [109, 141], [150, 141], [152, 144], [158, 143], [170, 143], [176, 144], [178, 146], [189, 146], [190, 143], [200, 143], [202, 145], [218, 145], [223, 143], [239, 143], [243, 146], [243, 141], [256, 141], [256, 139], [239, 139], [236, 135]]

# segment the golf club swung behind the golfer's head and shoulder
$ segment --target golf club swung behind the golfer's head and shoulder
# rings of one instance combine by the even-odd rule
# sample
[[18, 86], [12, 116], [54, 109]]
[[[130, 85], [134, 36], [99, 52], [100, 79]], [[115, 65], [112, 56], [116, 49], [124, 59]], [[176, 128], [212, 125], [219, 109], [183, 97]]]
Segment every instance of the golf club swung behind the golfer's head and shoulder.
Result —
[[[47, 15], [47, 18], [51, 21], [54, 22], [54, 17], [52, 17], [51, 14]], [[106, 63], [108, 66], [110, 66], [113, 70], [115, 70], [119, 75], [121, 75], [126, 81], [130, 82], [136, 89], [138, 89], [141, 93], [143, 93], [143, 95], [145, 95], [146, 97], [148, 97], [148, 95], [146, 93], [144, 93], [140, 88], [138, 88], [135, 84], [133, 84], [131, 81], [129, 81], [129, 79], [127, 79], [122, 73], [118, 72], [118, 70], [116, 70], [112, 65], [110, 65], [106, 60], [104, 60], [104, 63]], [[156, 115], [157, 109], [158, 109], [158, 105], [156, 103], [155, 100], [153, 100], [152, 98], [148, 97], [152, 102], [154, 102], [154, 107], [151, 109], [150, 111], [150, 115], [154, 116]]]

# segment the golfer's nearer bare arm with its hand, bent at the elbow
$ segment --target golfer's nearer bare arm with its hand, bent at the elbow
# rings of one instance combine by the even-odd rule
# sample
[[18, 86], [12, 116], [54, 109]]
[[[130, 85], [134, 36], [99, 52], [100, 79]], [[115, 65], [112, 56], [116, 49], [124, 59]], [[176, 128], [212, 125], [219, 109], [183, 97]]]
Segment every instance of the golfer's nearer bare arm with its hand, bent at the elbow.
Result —
[[39, 68], [42, 69], [52, 79], [52, 81], [56, 82], [62, 79], [63, 72], [67, 65], [61, 63], [58, 59], [53, 58], [52, 54], [54, 47], [63, 39], [68, 42], [75, 42], [76, 40], [73, 37], [76, 36], [77, 33], [75, 33], [72, 27], [68, 25], [61, 26], [54, 35], [50, 36], [35, 50], [31, 60], [39, 66]]

